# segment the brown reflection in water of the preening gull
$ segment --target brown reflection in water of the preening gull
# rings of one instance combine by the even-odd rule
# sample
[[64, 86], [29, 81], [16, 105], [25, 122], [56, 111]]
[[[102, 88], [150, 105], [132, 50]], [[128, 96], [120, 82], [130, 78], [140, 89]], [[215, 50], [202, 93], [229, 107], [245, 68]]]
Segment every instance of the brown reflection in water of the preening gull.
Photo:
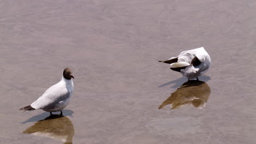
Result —
[[190, 80], [183, 83], [171, 97], [166, 99], [158, 109], [171, 104], [171, 109], [178, 109], [179, 107], [192, 104], [198, 109], [204, 107], [210, 96], [211, 88], [206, 82], [199, 80]]

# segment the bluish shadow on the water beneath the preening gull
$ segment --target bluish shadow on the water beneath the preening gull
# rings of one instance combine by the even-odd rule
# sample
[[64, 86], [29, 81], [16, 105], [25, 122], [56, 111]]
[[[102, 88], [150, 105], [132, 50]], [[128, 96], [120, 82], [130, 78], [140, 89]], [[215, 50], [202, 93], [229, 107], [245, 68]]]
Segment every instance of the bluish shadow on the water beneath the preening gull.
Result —
[[[206, 75], [202, 75], [202, 76], [199, 77], [199, 80], [208, 81], [208, 80], [211, 80], [211, 77], [210, 76], [206, 76]], [[158, 87], [164, 87], [164, 86], [167, 86], [167, 85], [170, 85], [170, 84], [174, 83], [175, 85], [171, 86], [171, 88], [178, 88], [178, 87], [181, 86], [181, 83], [184, 83], [186, 81], [188, 81], [187, 78], [181, 77], [181, 78], [179, 78], [177, 80], [166, 82], [166, 83], [164, 83], [164, 84], [162, 84], [162, 85], [160, 85]]]

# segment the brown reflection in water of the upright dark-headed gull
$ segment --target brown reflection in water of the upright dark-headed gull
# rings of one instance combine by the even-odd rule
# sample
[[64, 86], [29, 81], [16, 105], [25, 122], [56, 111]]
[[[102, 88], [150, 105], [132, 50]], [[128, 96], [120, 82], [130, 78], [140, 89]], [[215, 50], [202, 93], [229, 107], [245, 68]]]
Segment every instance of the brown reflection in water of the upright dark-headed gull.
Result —
[[34, 123], [34, 125], [23, 131], [23, 133], [51, 137], [61, 140], [64, 143], [72, 143], [74, 127], [67, 117], [51, 115]]

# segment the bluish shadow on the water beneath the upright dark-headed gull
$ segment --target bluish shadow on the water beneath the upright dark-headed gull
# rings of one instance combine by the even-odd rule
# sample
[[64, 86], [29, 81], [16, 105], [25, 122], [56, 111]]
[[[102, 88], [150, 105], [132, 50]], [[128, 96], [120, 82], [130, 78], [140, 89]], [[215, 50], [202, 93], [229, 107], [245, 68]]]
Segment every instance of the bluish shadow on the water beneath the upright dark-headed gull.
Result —
[[[63, 112], [63, 116], [71, 116], [71, 117], [72, 117], [72, 114], [74, 113], [72, 110], [63, 110], [62, 112]], [[33, 116], [31, 118], [28, 118], [26, 121], [20, 122], [20, 123], [25, 124], [25, 123], [29, 123], [29, 122], [37, 122], [40, 119], [48, 117], [49, 115], [50, 115], [49, 112], [44, 112], [44, 113], [41, 113], [41, 114], [39, 114], [37, 116]]]

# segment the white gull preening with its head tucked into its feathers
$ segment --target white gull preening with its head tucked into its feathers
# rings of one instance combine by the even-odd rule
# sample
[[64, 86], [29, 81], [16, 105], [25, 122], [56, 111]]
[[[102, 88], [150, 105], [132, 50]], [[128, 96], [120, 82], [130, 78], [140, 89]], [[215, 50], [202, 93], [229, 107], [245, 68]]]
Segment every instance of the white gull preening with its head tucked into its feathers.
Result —
[[177, 57], [172, 57], [167, 61], [159, 61], [168, 63], [171, 70], [182, 73], [188, 80], [196, 78], [205, 74], [210, 68], [211, 58], [203, 47], [197, 49], [182, 51]]

